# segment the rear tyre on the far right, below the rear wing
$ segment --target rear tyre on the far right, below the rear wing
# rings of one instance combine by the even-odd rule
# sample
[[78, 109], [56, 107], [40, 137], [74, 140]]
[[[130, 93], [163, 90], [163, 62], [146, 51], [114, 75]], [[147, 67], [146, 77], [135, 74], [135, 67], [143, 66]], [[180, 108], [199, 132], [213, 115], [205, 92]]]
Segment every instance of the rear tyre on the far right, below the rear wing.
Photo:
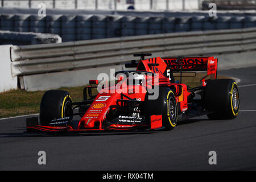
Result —
[[238, 115], [240, 96], [234, 80], [218, 79], [207, 82], [204, 105], [209, 119], [234, 119]]

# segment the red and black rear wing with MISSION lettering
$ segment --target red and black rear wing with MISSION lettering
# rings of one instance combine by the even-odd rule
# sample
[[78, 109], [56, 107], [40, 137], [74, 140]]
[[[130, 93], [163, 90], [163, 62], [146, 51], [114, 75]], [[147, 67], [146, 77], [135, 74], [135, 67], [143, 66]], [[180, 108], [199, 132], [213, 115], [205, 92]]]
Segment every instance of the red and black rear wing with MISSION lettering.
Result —
[[167, 67], [173, 72], [193, 72], [193, 71], [207, 71], [207, 75], [213, 75], [217, 78], [217, 64], [218, 59], [211, 57], [184, 57], [180, 62], [177, 62], [177, 57], [162, 58], [167, 64]]

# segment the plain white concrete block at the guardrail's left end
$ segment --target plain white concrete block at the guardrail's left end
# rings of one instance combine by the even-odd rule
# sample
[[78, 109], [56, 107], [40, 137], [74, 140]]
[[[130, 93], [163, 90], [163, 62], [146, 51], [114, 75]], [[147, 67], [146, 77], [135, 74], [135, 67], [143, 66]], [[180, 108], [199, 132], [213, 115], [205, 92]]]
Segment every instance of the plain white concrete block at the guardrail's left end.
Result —
[[11, 46], [12, 45], [0, 46], [0, 92], [17, 88], [17, 77], [11, 76]]

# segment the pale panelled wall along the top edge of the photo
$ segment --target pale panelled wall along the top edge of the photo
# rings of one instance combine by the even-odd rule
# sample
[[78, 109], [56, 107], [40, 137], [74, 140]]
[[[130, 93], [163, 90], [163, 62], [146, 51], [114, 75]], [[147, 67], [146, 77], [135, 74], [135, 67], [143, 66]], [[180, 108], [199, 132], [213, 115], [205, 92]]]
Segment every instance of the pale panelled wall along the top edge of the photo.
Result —
[[[40, 2], [45, 3], [48, 9], [127, 10], [130, 6], [126, 0], [2, 0], [2, 7], [37, 8]], [[181, 0], [169, 0], [168, 3], [166, 0], [135, 0], [134, 2], [136, 10], [183, 9]], [[201, 0], [187, 0], [184, 2], [184, 8], [186, 10], [199, 9], [200, 2]]]

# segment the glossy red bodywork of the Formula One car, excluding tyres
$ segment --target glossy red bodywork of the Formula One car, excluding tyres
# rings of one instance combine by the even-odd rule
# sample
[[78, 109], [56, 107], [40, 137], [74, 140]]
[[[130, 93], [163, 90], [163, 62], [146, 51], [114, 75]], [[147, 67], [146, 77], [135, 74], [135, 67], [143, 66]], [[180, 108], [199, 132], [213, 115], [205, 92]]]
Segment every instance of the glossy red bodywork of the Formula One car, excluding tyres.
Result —
[[[118, 78], [117, 84], [109, 85], [108, 88], [104, 88], [101, 91], [108, 91], [108, 93], [98, 93], [94, 101], [89, 106], [89, 109], [82, 116], [79, 121], [79, 125], [77, 129], [73, 129], [71, 126], [35, 126], [28, 127], [30, 129], [36, 129], [41, 131], [101, 131], [101, 130], [130, 130], [137, 127], [148, 127], [150, 129], [158, 129], [162, 127], [162, 115], [152, 115], [150, 117], [150, 122], [148, 124], [145, 123], [133, 123], [132, 125], [118, 125], [113, 123], [112, 125], [104, 126], [103, 122], [106, 119], [110, 111], [110, 106], [113, 105], [121, 105], [121, 102], [118, 100], [129, 100], [135, 99], [137, 101], [144, 101], [146, 95], [146, 86], [152, 86], [157, 84], [158, 86], [167, 86], [174, 90], [176, 102], [180, 103], [180, 111], [184, 112], [188, 110], [188, 96], [191, 94], [189, 92], [187, 85], [179, 84], [170, 81], [170, 77], [168, 76], [170, 73], [170, 69], [172, 72], [182, 71], [207, 71], [206, 76], [210, 76], [211, 79], [217, 78], [217, 59], [214, 57], [185, 57], [180, 64], [177, 64], [176, 57], [170, 58], [160, 58], [154, 57], [146, 60], [141, 60], [138, 63], [136, 71], [142, 72], [151, 72], [158, 74], [158, 81], [152, 82], [151, 84], [147, 84], [147, 82], [142, 82], [139, 85], [128, 85], [126, 80], [122, 80], [122, 78]], [[205, 76], [205, 77], [206, 77]], [[154, 80], [155, 75], [151, 75], [147, 77], [148, 80]], [[206, 85], [207, 80], [205, 77], [201, 79], [202, 86]], [[118, 83], [122, 81], [122, 85], [119, 85], [117, 89]], [[90, 80], [90, 84], [98, 84], [97, 80]], [[126, 84], [127, 87], [123, 89], [123, 84]], [[139, 93], [129, 93], [131, 90], [140, 90]], [[114, 91], [113, 91], [114, 90]], [[123, 97], [123, 95], [127, 96]]]

